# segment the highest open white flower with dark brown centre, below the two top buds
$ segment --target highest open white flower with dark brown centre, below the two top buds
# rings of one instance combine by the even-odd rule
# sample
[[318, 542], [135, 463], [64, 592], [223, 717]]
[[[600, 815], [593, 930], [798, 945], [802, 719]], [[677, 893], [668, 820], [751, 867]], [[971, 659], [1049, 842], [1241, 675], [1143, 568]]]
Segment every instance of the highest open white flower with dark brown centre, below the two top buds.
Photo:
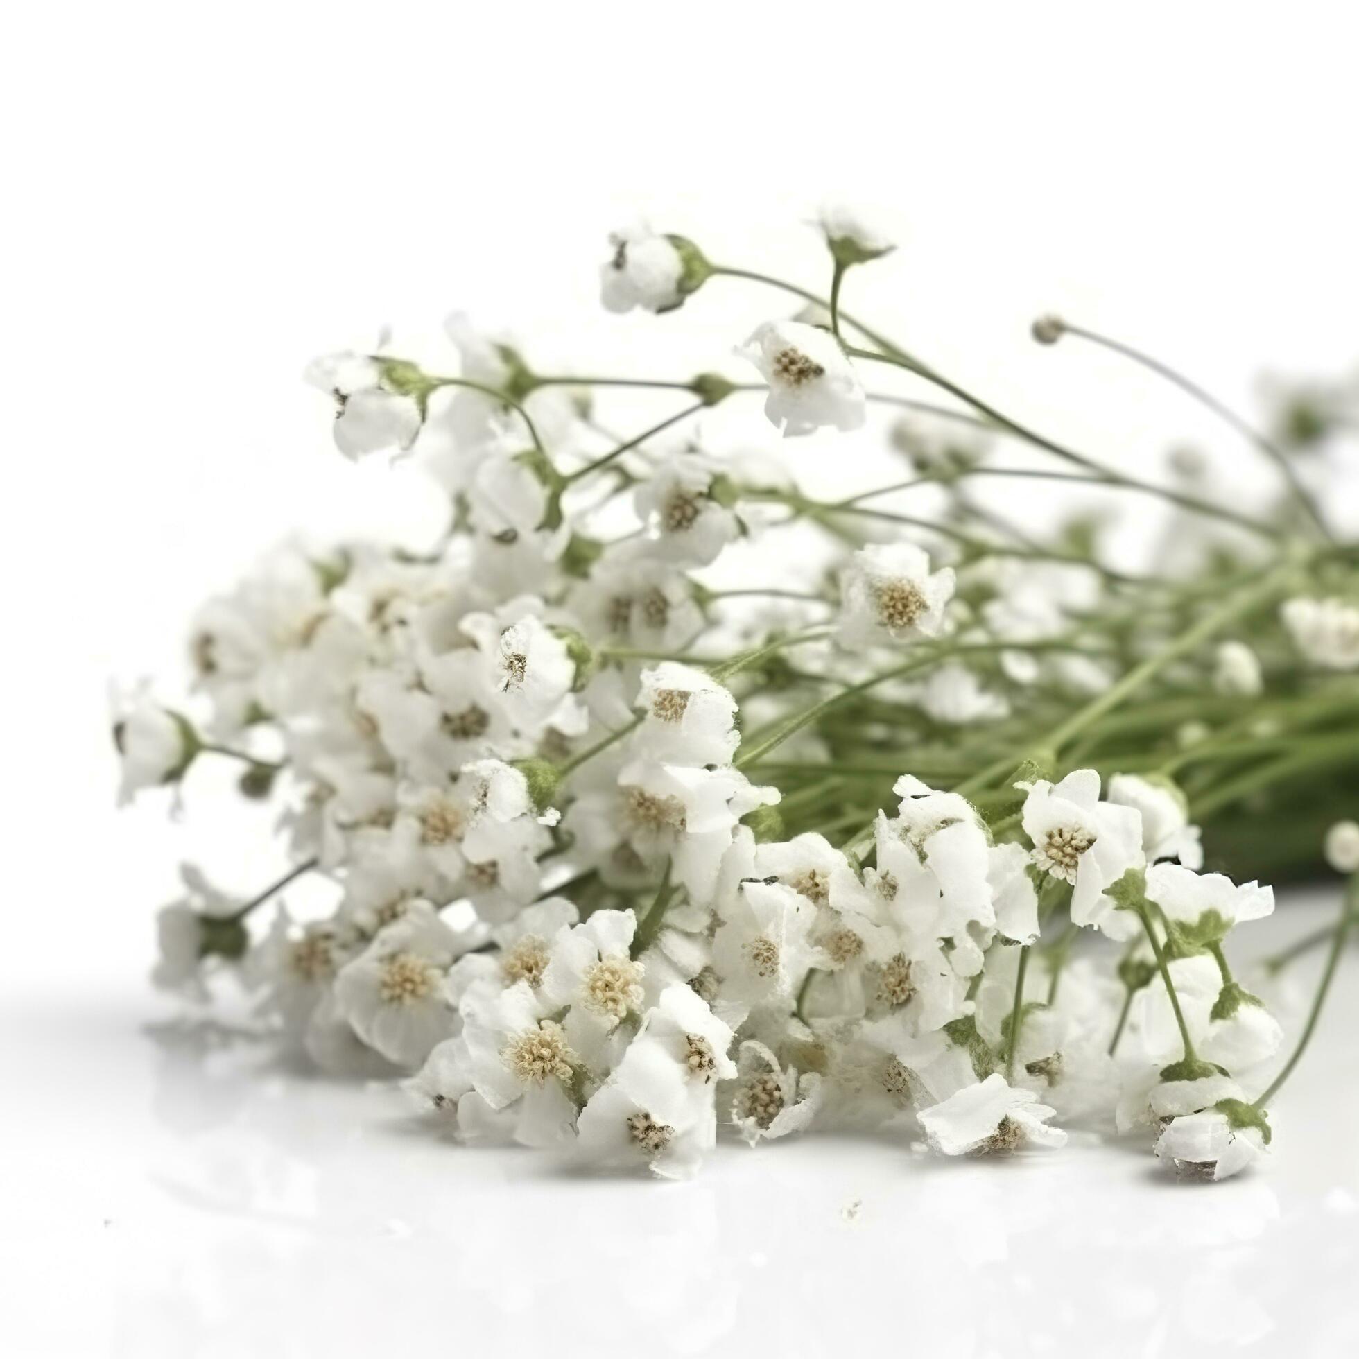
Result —
[[768, 321], [739, 348], [769, 383], [765, 414], [786, 436], [859, 429], [866, 400], [840, 341], [796, 321]]

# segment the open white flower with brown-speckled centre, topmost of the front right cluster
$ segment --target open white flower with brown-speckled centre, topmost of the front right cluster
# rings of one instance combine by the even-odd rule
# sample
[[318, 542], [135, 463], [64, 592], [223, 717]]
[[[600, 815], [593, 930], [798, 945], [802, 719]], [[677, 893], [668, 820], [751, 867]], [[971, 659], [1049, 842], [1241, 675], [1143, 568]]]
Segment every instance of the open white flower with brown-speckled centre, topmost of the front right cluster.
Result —
[[1137, 917], [1104, 894], [1128, 868], [1146, 862], [1136, 809], [1101, 802], [1094, 769], [1076, 769], [1057, 784], [1040, 779], [1017, 787], [1029, 790], [1022, 821], [1033, 841], [1033, 862], [1072, 885], [1072, 923], [1093, 925], [1110, 939], [1136, 935]]

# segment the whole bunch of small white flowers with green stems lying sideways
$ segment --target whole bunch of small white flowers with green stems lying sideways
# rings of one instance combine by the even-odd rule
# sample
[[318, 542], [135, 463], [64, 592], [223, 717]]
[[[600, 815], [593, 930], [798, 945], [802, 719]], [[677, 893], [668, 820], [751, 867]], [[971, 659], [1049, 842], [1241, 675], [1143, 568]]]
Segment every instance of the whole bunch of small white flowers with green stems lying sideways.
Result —
[[[461, 315], [455, 364], [386, 340], [311, 364], [338, 450], [400, 458], [451, 527], [287, 544], [198, 613], [183, 701], [116, 694], [121, 800], [235, 761], [289, 864], [249, 898], [186, 867], [155, 981], [202, 1002], [234, 977], [318, 1067], [595, 1166], [1076, 1128], [1235, 1174], [1301, 1052], [1276, 1078], [1283, 1030], [1234, 970], [1273, 911], [1243, 879], [1324, 836], [1359, 871], [1359, 554], [1287, 461], [1256, 516], [1197, 461], [1161, 488], [1008, 421], [841, 310], [893, 241], [840, 207], [814, 230], [825, 304], [697, 375], [545, 375]], [[599, 265], [617, 313], [752, 273], [644, 226]], [[655, 389], [652, 428], [605, 434], [614, 385]], [[920, 385], [951, 405], [902, 425]], [[762, 458], [707, 423], [747, 393]], [[879, 485], [822, 499], [780, 465], [798, 436], [855, 491], [874, 463], [844, 436], [871, 424], [900, 462]], [[1150, 569], [1089, 520], [978, 507], [1014, 446], [1139, 512], [1163, 491]], [[294, 882], [321, 904], [295, 913]]]

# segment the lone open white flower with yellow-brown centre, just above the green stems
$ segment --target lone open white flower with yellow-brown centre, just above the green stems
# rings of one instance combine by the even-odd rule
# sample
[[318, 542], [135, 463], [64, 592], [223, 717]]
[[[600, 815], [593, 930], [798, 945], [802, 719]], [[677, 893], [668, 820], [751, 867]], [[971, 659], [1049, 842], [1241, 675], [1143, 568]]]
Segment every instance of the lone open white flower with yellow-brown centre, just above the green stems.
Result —
[[839, 640], [847, 647], [936, 637], [953, 598], [951, 567], [931, 572], [930, 556], [909, 542], [871, 544], [841, 579]]

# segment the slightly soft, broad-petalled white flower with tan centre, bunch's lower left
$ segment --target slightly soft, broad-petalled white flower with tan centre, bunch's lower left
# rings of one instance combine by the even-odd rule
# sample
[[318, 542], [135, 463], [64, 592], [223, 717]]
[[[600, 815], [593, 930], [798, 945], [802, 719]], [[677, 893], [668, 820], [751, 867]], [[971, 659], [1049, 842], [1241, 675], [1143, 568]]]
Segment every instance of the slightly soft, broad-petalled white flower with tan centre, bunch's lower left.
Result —
[[353, 1031], [398, 1067], [414, 1070], [451, 1036], [444, 974], [466, 947], [427, 901], [378, 932], [336, 977], [336, 1000]]

